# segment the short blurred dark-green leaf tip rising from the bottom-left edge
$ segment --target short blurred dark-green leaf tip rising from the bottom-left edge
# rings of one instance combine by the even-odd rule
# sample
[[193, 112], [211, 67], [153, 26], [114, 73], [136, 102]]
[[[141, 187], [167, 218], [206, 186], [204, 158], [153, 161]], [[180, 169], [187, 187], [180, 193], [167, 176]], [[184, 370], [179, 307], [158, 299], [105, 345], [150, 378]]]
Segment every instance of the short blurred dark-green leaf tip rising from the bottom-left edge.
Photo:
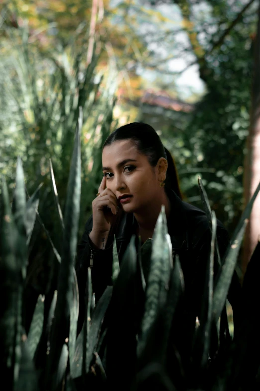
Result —
[[21, 364], [14, 391], [39, 391], [37, 372], [32, 360], [26, 335], [21, 340]]

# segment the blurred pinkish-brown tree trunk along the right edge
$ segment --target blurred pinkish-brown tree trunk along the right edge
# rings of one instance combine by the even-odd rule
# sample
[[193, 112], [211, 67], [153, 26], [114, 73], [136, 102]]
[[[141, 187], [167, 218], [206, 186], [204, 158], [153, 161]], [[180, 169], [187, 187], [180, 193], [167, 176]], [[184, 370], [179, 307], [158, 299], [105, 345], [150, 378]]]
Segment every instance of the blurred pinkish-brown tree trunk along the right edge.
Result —
[[[260, 181], [260, 1], [258, 11], [257, 34], [254, 42], [254, 72], [252, 83], [252, 105], [250, 112], [249, 134], [247, 137], [247, 152], [244, 160], [244, 207], [250, 201]], [[260, 237], [260, 193], [253, 204], [249, 223], [246, 228], [242, 272], [247, 264]]]

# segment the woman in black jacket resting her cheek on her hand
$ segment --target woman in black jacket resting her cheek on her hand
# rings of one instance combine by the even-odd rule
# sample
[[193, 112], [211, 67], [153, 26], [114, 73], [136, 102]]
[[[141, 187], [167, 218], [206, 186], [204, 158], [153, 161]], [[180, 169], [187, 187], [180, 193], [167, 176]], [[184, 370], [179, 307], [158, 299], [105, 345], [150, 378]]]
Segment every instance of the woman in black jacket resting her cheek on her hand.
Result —
[[[103, 179], [92, 202], [93, 214], [78, 245], [79, 328], [83, 322], [87, 268], [91, 267], [97, 301], [106, 286], [111, 285], [114, 234], [120, 263], [133, 234], [140, 235], [142, 243], [152, 238], [162, 205], [173, 253], [180, 257], [185, 295], [195, 321], [200, 316], [211, 230], [205, 213], [182, 201], [171, 154], [150, 125], [134, 122], [108, 136], [102, 148], [102, 164]], [[222, 257], [229, 236], [219, 220], [217, 238]], [[234, 274], [228, 296], [233, 312], [238, 307], [240, 288]]]

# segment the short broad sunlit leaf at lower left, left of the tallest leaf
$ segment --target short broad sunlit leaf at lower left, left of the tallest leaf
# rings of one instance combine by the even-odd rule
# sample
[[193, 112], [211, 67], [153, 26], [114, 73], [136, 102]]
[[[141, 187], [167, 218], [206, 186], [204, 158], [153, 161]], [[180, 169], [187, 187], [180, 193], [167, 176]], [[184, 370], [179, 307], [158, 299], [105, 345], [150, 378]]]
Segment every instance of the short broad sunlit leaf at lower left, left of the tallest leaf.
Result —
[[30, 356], [32, 358], [34, 357], [36, 348], [41, 338], [43, 321], [44, 321], [44, 296], [39, 295], [34, 310], [34, 314], [32, 317], [32, 322], [28, 333], [27, 341], [26, 341]]

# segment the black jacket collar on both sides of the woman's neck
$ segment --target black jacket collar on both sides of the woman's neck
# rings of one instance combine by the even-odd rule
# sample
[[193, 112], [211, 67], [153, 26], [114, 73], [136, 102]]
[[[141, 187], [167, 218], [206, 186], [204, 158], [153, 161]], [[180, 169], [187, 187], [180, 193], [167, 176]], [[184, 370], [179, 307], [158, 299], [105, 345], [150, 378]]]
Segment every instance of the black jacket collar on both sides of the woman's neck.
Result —
[[[180, 249], [185, 245], [188, 248], [188, 221], [183, 203], [172, 189], [167, 191], [167, 196], [171, 204], [168, 232], [171, 237], [172, 247], [174, 249]], [[116, 240], [129, 241], [136, 230], [137, 224], [133, 213], [123, 213], [115, 233]]]

